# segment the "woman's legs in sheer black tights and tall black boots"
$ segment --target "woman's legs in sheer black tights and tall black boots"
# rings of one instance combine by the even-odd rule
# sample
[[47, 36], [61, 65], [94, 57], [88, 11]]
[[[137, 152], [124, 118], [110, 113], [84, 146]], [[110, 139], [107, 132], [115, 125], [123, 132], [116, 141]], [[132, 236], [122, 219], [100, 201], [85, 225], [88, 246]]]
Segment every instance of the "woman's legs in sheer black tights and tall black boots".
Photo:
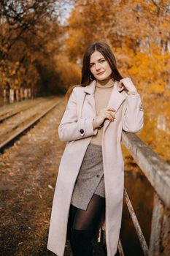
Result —
[[105, 208], [105, 198], [93, 194], [86, 211], [70, 206], [70, 244], [74, 256], [92, 256], [92, 238]]

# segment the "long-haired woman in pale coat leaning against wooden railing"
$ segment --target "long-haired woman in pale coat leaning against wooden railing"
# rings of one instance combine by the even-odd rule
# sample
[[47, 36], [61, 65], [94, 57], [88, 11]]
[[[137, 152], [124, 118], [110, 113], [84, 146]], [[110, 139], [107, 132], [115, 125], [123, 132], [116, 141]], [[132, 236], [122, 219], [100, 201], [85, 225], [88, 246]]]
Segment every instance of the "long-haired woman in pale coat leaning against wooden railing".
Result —
[[82, 83], [74, 86], [58, 127], [66, 141], [58, 171], [47, 248], [63, 256], [93, 255], [92, 238], [105, 227], [107, 256], [117, 252], [124, 188], [122, 130], [143, 127], [140, 95], [117, 70], [105, 42], [85, 50]]

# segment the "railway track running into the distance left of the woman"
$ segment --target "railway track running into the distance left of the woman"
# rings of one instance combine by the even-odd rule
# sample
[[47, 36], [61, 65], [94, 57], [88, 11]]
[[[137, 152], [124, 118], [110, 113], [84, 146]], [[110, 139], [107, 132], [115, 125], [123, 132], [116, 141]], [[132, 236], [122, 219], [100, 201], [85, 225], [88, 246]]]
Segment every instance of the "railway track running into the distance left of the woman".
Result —
[[0, 124], [0, 152], [3, 153], [5, 148], [11, 146], [20, 135], [33, 127], [59, 103], [55, 98], [37, 99], [35, 102], [27, 102], [15, 110], [8, 110], [6, 113], [5, 111], [1, 113], [0, 110], [1, 116], [6, 115], [3, 123]]

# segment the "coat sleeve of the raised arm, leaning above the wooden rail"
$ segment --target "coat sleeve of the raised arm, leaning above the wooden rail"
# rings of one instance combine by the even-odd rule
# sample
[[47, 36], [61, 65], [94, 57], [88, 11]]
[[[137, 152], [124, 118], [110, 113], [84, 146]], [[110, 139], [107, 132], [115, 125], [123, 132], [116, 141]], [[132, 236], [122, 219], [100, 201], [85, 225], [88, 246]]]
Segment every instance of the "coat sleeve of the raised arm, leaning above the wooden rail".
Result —
[[123, 116], [123, 130], [125, 132], [139, 132], [144, 126], [144, 113], [140, 94], [129, 94], [125, 99], [125, 114]]

